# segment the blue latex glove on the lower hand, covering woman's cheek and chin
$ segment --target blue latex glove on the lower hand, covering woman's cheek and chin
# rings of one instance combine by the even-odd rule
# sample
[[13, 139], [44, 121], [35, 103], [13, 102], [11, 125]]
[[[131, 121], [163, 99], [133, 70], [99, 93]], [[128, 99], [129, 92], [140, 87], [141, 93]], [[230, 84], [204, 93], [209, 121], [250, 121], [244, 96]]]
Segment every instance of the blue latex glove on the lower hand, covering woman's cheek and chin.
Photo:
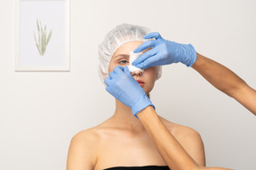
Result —
[[132, 108], [132, 114], [138, 119], [136, 114], [142, 109], [154, 104], [151, 103], [144, 89], [132, 77], [128, 66], [115, 66], [113, 71], [104, 80], [107, 84], [106, 90], [123, 104]]

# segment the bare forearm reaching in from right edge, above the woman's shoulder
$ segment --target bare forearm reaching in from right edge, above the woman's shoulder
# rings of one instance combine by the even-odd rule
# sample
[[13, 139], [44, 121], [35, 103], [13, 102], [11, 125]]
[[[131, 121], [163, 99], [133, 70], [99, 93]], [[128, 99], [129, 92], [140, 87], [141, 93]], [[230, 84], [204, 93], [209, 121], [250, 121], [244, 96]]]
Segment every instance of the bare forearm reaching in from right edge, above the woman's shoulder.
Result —
[[199, 53], [192, 68], [200, 73], [204, 79], [209, 81], [215, 88], [226, 93], [229, 97], [235, 98], [243, 104], [249, 111], [256, 115], [256, 90], [252, 89], [236, 73], [226, 66], [205, 58]]

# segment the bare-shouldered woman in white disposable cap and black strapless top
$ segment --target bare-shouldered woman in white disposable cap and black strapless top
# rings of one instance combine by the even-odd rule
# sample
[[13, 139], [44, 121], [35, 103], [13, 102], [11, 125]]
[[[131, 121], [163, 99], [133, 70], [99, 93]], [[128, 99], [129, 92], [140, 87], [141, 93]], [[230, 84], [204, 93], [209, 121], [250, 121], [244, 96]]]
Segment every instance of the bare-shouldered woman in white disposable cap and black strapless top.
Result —
[[[100, 44], [100, 80], [108, 77], [114, 68], [129, 66], [130, 51], [145, 42], [146, 27], [122, 24], [108, 33]], [[146, 52], [143, 50], [142, 52]], [[121, 55], [122, 54], [122, 55]], [[144, 72], [131, 73], [149, 98], [155, 81], [161, 77], [161, 66], [152, 66]], [[136, 94], [133, 94], [136, 95]], [[152, 104], [152, 106], [154, 106]], [[154, 106], [155, 108], [155, 106]], [[205, 166], [204, 144], [192, 128], [181, 126], [158, 117], [196, 164]], [[165, 141], [168, 143], [168, 141]], [[123, 167], [121, 167], [123, 166]], [[170, 169], [156, 150], [141, 121], [132, 114], [131, 107], [116, 99], [116, 111], [108, 120], [85, 129], [72, 138], [68, 150], [67, 170], [111, 169]]]

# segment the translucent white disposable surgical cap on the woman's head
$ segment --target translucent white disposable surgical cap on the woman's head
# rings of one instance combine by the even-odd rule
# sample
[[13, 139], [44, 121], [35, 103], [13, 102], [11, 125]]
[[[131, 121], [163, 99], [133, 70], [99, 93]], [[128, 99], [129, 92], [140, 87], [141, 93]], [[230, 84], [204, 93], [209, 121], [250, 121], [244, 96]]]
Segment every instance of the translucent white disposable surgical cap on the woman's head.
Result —
[[[144, 39], [144, 35], [148, 35], [150, 29], [148, 27], [140, 27], [132, 24], [121, 24], [116, 26], [114, 29], [108, 32], [103, 42], [99, 45], [99, 76], [100, 81], [104, 83], [104, 80], [109, 76], [108, 66], [110, 60], [116, 50], [123, 45], [125, 42], [141, 41], [146, 42], [150, 39]], [[152, 39], [151, 39], [152, 40]], [[162, 66], [156, 67], [156, 80], [161, 77]]]

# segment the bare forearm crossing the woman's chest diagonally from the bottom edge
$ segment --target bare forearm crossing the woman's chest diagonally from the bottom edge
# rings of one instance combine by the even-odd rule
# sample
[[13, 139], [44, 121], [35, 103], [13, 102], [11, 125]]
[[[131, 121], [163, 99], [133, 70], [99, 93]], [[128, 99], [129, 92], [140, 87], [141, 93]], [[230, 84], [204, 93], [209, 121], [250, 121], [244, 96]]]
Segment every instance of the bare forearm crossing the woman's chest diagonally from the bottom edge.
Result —
[[137, 117], [148, 131], [157, 151], [172, 170], [230, 170], [222, 167], [198, 166], [175, 137], [165, 128], [152, 106], [148, 106]]

